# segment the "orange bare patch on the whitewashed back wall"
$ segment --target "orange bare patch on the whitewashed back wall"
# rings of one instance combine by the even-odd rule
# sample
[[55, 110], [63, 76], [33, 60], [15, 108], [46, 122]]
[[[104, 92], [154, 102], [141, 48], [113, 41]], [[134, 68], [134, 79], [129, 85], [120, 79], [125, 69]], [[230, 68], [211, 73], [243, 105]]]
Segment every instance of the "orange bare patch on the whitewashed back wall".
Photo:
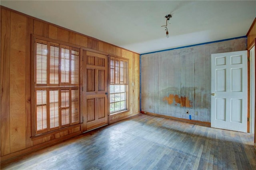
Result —
[[165, 96], [163, 101], [168, 101], [168, 104], [171, 105], [175, 101], [174, 105], [180, 104], [180, 107], [192, 107], [190, 100], [186, 96], [178, 96], [170, 94], [169, 97]]

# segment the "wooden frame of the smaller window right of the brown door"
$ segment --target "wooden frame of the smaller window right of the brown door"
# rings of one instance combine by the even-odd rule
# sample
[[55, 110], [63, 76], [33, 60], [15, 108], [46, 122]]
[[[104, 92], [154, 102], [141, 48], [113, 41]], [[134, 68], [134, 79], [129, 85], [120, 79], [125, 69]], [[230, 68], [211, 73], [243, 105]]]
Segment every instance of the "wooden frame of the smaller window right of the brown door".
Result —
[[[116, 66], [116, 60], [117, 61], [124, 61], [124, 62], [127, 62], [127, 65], [126, 65], [126, 73], [124, 73], [125, 74], [125, 76], [123, 77], [123, 81], [120, 81], [121, 79], [119, 78], [119, 82], [118, 83], [116, 83], [116, 77], [115, 77], [115, 75], [116, 75], [116, 70], [114, 69], [114, 83], [113, 83], [113, 79], [111, 79], [111, 77], [112, 77], [112, 74], [113, 74], [113, 72], [111, 71], [111, 69], [113, 69], [113, 68], [111, 68], [111, 60], [112, 59], [114, 59], [114, 66]], [[127, 59], [127, 58], [124, 58], [124, 57], [116, 57], [116, 56], [110, 56], [109, 55], [109, 57], [108, 57], [108, 70], [109, 70], [109, 73], [108, 73], [108, 75], [109, 75], [109, 81], [108, 81], [108, 107], [109, 107], [109, 109], [108, 109], [108, 112], [109, 112], [109, 115], [115, 115], [115, 114], [119, 114], [119, 113], [124, 113], [124, 112], [127, 112], [127, 111], [129, 111], [129, 59]], [[124, 70], [123, 70], [123, 72], [124, 72]], [[120, 69], [119, 69], [119, 73], [120, 73]], [[120, 75], [119, 75], [119, 77], [120, 77]], [[121, 109], [120, 111], [116, 111], [116, 112], [112, 112], [112, 113], [110, 113], [110, 94], [113, 94], [113, 93], [110, 93], [110, 85], [125, 85], [125, 89], [126, 89], [126, 109]], [[112, 102], [113, 103], [113, 102]]]

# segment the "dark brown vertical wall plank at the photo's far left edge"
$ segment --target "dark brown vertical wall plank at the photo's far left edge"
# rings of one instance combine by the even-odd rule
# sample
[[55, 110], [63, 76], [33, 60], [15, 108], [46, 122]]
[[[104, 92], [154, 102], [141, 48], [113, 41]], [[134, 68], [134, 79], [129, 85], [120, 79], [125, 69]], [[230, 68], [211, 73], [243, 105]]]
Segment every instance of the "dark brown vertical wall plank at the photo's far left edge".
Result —
[[1, 9], [1, 156], [10, 153], [10, 16]]

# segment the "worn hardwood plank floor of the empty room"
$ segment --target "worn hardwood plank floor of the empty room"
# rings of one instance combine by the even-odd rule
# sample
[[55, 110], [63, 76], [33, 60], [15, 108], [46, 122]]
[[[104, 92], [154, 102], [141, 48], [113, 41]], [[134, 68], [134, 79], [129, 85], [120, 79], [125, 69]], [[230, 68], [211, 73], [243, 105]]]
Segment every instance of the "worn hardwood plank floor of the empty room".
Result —
[[1, 169], [256, 169], [252, 134], [139, 114]]

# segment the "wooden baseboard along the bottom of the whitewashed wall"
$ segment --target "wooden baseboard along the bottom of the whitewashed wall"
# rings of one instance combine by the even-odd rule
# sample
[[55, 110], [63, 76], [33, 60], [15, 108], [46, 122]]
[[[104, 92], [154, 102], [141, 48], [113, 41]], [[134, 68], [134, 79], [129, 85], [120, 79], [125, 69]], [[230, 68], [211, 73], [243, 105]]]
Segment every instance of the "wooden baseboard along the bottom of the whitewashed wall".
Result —
[[202, 125], [205, 127], [211, 127], [210, 122], [189, 120], [189, 119], [183, 119], [183, 118], [172, 117], [172, 116], [167, 116], [167, 115], [159, 115], [156, 113], [150, 113], [150, 112], [145, 112], [145, 111], [140, 111], [140, 113], [147, 114], [147, 115], [154, 115], [154, 116], [158, 116], [158, 117], [164, 117], [164, 118], [168, 118], [168, 119], [174, 119], [174, 120], [183, 121], [183, 122], [191, 123], [191, 124], [195, 124], [195, 125]]

